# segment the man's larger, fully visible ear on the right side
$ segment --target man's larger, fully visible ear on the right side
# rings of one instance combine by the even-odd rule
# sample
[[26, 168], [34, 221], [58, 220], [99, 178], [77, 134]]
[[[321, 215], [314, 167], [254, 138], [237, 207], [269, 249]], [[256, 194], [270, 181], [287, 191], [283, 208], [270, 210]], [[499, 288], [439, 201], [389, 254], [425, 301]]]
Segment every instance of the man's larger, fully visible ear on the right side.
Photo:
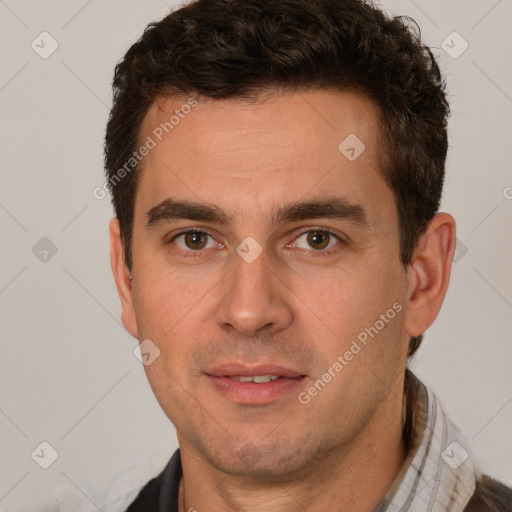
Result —
[[420, 237], [408, 267], [409, 300], [405, 332], [424, 333], [436, 319], [443, 304], [455, 254], [455, 220], [438, 213]]

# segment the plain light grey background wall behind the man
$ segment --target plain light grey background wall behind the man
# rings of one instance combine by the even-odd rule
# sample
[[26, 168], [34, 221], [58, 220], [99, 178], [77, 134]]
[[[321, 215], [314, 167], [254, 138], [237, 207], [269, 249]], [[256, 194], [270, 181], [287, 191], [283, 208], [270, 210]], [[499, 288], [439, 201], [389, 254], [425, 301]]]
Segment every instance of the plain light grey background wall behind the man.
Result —
[[[459, 251], [412, 367], [480, 468], [511, 485], [512, 3], [384, 5], [422, 27], [453, 111], [443, 210], [458, 222]], [[3, 511], [123, 510], [177, 446], [119, 320], [109, 198], [93, 197], [114, 65], [168, 10], [156, 0], [0, 0]], [[43, 31], [59, 45], [46, 59], [31, 47], [51, 48]], [[469, 44], [461, 55], [454, 31]], [[48, 469], [31, 458], [43, 441], [58, 452]], [[50, 462], [48, 448], [34, 453]]]

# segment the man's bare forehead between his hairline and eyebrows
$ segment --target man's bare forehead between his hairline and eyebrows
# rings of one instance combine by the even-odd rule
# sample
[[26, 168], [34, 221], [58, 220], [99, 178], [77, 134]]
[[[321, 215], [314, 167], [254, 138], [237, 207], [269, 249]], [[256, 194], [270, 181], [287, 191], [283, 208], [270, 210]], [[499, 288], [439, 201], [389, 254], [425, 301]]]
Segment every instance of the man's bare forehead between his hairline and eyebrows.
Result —
[[392, 201], [389, 189], [383, 196], [377, 130], [377, 107], [349, 92], [257, 103], [159, 98], [141, 127], [140, 140], [154, 147], [138, 200], [151, 207], [172, 195], [243, 214], [333, 192], [370, 205]]

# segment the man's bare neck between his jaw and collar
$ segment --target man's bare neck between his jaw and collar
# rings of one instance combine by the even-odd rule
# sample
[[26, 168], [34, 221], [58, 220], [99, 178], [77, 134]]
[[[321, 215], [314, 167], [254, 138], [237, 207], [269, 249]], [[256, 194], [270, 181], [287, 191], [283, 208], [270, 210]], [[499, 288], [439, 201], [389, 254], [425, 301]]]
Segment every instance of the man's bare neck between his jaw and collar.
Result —
[[388, 396], [356, 438], [285, 483], [261, 484], [218, 471], [178, 433], [184, 475], [179, 511], [324, 512], [333, 503], [337, 510], [374, 510], [406, 457], [401, 404], [396, 394]]

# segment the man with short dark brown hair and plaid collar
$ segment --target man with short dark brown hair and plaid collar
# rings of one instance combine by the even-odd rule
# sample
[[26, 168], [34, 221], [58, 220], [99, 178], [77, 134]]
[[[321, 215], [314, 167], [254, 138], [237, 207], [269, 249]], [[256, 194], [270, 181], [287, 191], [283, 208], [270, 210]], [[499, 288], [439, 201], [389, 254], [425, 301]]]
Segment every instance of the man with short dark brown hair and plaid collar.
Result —
[[198, 0], [130, 48], [112, 268], [180, 447], [130, 512], [511, 509], [407, 370], [455, 252], [447, 116], [360, 0]]

